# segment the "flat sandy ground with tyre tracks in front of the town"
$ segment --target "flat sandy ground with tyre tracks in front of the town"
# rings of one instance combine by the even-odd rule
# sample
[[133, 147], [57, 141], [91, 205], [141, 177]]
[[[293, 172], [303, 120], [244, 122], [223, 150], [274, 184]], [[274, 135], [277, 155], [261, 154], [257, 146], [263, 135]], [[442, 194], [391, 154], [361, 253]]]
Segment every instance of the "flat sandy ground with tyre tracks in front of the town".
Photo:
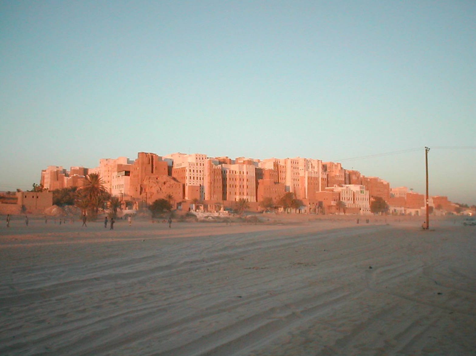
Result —
[[299, 219], [3, 222], [0, 355], [476, 355], [476, 227]]

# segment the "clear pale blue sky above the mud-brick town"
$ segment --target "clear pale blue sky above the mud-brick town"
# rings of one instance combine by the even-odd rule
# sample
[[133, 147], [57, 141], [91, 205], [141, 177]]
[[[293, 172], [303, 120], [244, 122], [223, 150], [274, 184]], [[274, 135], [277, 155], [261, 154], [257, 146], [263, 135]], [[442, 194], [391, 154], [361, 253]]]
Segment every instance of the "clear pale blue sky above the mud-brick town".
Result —
[[141, 151], [306, 157], [476, 204], [476, 2], [0, 2], [0, 190]]

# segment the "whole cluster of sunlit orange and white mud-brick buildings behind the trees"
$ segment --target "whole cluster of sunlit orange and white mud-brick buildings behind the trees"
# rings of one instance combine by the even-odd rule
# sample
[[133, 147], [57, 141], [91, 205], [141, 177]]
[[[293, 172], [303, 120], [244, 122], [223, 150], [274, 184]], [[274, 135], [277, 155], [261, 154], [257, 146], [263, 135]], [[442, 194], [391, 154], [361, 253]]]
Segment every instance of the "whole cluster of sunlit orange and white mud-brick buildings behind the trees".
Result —
[[[41, 171], [40, 184], [50, 191], [81, 187], [89, 173], [98, 173], [104, 187], [120, 198], [124, 207], [136, 209], [168, 198], [175, 208], [199, 203], [200, 208], [217, 211], [247, 199], [250, 209], [258, 211], [265, 198], [277, 203], [291, 192], [302, 201], [304, 213], [370, 214], [370, 203], [377, 197], [395, 214], [422, 215], [425, 210], [423, 194], [406, 187], [390, 188], [387, 181], [344, 169], [340, 163], [300, 157], [260, 160], [139, 152], [135, 160], [101, 158], [96, 168], [71, 167], [67, 171], [48, 166]], [[456, 208], [446, 197], [431, 197], [429, 204], [442, 212]]]

